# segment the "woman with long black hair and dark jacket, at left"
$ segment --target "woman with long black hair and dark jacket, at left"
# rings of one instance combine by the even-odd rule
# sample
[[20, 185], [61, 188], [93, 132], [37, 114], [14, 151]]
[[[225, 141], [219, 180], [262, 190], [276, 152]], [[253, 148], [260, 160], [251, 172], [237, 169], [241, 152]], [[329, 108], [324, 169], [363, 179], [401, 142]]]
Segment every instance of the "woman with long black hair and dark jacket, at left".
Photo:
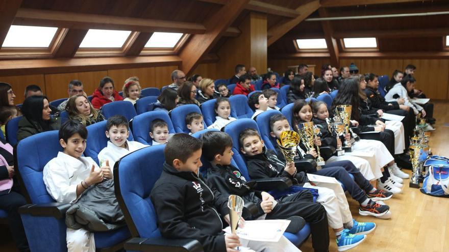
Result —
[[19, 121], [17, 141], [30, 135], [61, 127], [59, 118], [51, 118], [52, 109], [46, 96], [30, 96], [22, 105], [23, 117]]

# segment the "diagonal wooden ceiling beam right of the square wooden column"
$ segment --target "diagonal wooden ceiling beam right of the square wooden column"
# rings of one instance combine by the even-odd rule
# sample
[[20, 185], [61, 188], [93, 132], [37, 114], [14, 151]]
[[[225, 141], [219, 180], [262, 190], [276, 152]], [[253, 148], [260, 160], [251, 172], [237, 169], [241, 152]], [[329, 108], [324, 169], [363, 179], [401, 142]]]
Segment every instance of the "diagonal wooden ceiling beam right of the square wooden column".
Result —
[[319, 0], [314, 0], [312, 2], [301, 5], [300, 7], [296, 8], [296, 11], [300, 13], [296, 18], [275, 25], [268, 30], [268, 34], [270, 34], [271, 37], [268, 38], [267, 46], [270, 46], [271, 44], [275, 43], [278, 39], [284, 36], [288, 31], [293, 29], [293, 27], [301, 23], [301, 21], [306, 19], [319, 7], [320, 7]]

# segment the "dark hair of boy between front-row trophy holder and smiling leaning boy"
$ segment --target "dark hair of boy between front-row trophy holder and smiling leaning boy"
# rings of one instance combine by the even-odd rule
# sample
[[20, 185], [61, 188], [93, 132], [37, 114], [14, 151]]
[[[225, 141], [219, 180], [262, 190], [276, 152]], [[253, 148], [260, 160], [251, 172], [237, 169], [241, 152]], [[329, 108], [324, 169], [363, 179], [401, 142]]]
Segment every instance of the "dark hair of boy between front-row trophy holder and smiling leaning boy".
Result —
[[215, 155], [223, 155], [227, 147], [232, 147], [232, 138], [221, 131], [207, 131], [201, 136], [203, 142], [203, 156], [212, 161]]

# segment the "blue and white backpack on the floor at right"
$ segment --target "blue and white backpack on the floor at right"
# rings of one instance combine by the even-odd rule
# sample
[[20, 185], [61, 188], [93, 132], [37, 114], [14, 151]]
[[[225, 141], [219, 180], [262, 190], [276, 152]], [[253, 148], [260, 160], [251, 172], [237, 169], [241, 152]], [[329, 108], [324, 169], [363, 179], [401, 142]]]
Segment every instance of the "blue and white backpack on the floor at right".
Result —
[[422, 182], [422, 193], [449, 198], [449, 159], [432, 156], [424, 162], [429, 167], [429, 174]]

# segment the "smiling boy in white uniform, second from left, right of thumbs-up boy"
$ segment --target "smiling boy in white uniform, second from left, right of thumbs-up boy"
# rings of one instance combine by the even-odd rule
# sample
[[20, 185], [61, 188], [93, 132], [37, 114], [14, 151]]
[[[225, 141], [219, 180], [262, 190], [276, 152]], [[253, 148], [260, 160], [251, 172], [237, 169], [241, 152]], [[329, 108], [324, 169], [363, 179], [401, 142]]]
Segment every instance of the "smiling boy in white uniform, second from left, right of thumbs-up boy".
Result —
[[123, 116], [113, 116], [106, 123], [106, 137], [109, 138], [108, 145], [98, 153], [98, 162], [101, 164], [109, 161], [112, 169], [115, 162], [133, 151], [147, 147], [136, 141], [128, 141], [130, 136], [129, 122]]

